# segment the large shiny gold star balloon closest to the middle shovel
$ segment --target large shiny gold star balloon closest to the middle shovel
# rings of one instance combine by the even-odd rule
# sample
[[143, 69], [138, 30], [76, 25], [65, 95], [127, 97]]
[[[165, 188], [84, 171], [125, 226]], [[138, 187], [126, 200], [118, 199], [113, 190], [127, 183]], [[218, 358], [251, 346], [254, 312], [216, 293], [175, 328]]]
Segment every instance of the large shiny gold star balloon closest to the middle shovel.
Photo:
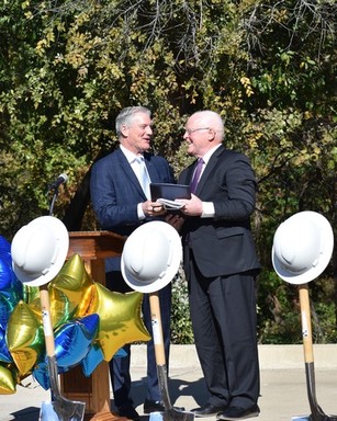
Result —
[[141, 317], [143, 294], [137, 292], [115, 293], [99, 283], [94, 283], [88, 288], [86, 300], [90, 303], [89, 308], [82, 309], [79, 306], [78, 310], [79, 312], [88, 311], [99, 315], [100, 323], [97, 339], [105, 361], [110, 361], [126, 343], [150, 339]]

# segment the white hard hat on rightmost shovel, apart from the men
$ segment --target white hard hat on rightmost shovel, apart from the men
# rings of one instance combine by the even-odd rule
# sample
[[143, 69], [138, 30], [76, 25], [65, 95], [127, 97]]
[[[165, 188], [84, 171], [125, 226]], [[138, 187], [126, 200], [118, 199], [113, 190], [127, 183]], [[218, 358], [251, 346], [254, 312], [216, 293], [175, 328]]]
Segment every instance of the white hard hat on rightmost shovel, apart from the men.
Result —
[[329, 221], [312, 210], [300, 212], [277, 229], [272, 264], [277, 274], [290, 284], [313, 281], [327, 266], [334, 250]]

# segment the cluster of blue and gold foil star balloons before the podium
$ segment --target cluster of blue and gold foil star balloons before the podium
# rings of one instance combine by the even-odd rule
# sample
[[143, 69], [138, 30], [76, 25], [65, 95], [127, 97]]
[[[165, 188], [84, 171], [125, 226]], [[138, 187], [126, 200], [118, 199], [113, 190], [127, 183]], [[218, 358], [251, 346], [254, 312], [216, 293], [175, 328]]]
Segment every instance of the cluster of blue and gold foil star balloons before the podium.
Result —
[[[58, 373], [80, 364], [90, 376], [102, 361], [123, 357], [124, 344], [150, 339], [141, 317], [143, 294], [109, 291], [91, 278], [78, 254], [48, 293]], [[18, 281], [11, 246], [0, 236], [0, 395], [14, 394], [29, 375], [49, 388], [40, 289]]]

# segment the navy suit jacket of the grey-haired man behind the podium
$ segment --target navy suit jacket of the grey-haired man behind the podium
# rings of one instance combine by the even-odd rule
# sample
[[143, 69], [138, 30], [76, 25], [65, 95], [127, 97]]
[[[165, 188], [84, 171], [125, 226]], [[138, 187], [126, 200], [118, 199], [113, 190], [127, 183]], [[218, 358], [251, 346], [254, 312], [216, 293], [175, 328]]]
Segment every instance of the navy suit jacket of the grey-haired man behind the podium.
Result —
[[[167, 160], [144, 153], [153, 183], [173, 183]], [[137, 204], [146, 196], [121, 148], [97, 161], [92, 167], [90, 194], [101, 229], [128, 236], [139, 225], [154, 218], [138, 220]]]

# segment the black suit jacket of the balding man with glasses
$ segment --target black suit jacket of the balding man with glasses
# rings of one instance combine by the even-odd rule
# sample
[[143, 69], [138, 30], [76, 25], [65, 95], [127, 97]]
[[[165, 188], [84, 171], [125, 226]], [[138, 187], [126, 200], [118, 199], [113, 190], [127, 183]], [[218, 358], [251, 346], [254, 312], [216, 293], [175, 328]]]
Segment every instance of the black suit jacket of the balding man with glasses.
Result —
[[[178, 182], [190, 184], [194, 168], [195, 162], [182, 171]], [[213, 277], [259, 269], [249, 223], [256, 179], [248, 158], [221, 145], [207, 162], [195, 195], [213, 202], [215, 209], [212, 218], [187, 218], [182, 228], [182, 236], [188, 236], [186, 248], [193, 250], [201, 273]], [[188, 271], [188, 264], [184, 269]]]

